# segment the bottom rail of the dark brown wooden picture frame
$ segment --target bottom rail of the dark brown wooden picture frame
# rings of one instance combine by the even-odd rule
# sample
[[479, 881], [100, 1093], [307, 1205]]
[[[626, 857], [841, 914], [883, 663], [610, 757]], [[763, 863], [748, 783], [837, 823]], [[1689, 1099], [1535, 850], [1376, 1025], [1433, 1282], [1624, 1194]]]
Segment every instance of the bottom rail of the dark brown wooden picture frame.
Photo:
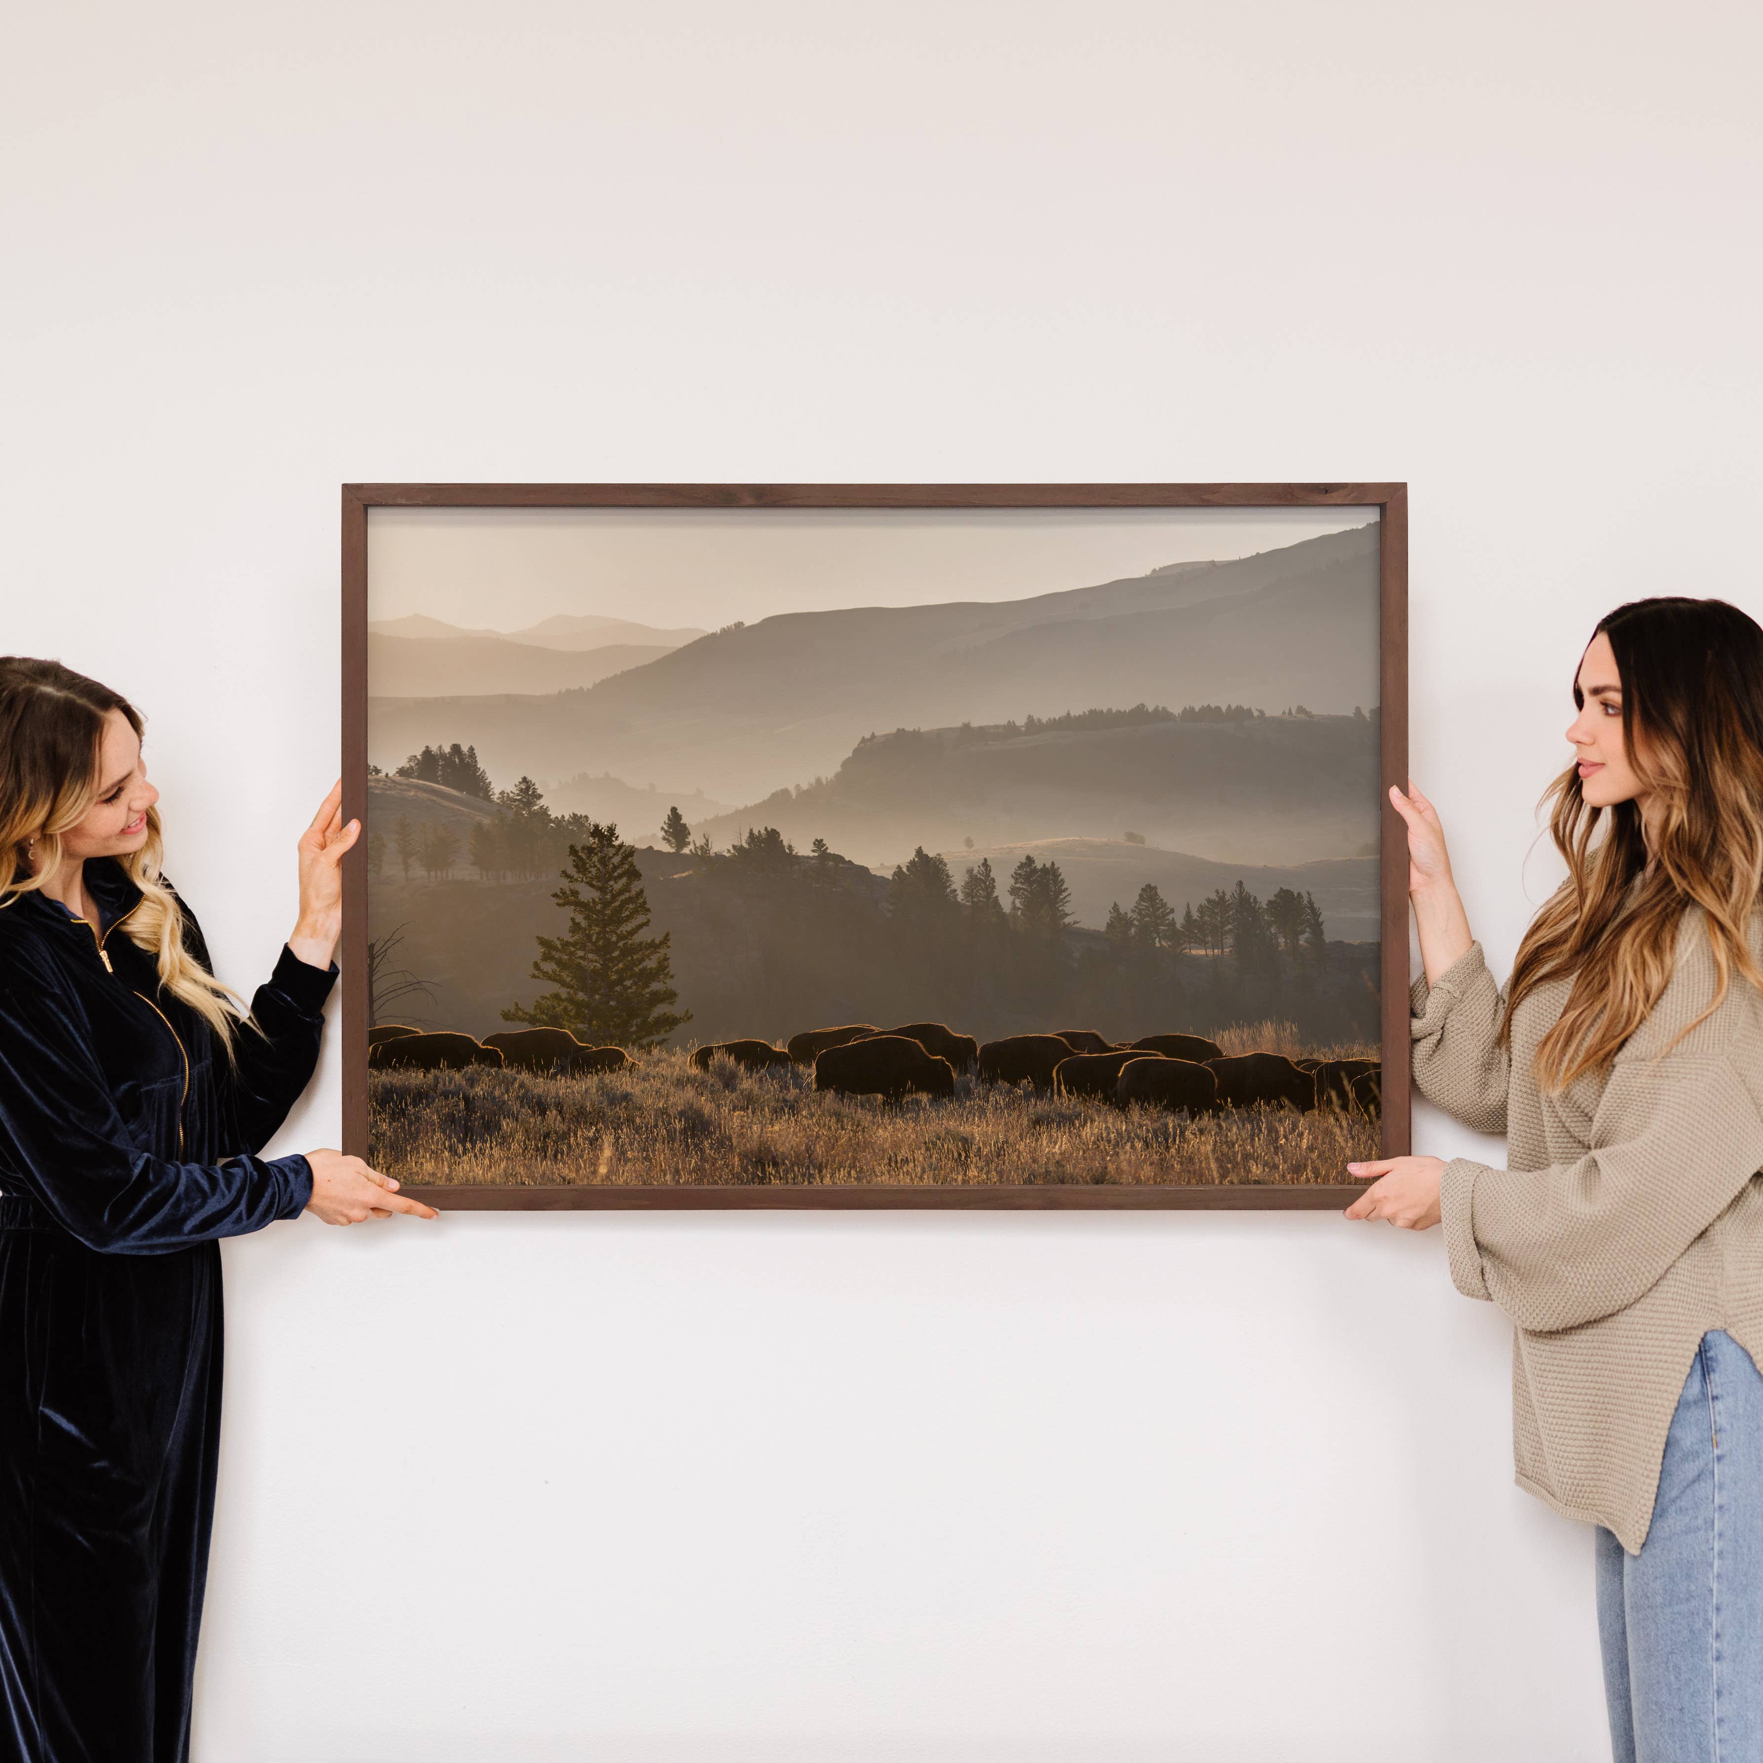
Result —
[[402, 1185], [439, 1211], [1342, 1211], [1368, 1183], [1220, 1186], [465, 1186]]

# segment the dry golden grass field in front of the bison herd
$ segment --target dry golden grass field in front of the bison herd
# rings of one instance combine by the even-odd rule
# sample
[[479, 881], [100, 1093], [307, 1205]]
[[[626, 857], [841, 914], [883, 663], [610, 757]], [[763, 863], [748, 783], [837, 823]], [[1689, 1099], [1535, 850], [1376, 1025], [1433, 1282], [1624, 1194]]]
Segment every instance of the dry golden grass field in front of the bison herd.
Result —
[[[1218, 1038], [1227, 1053], [1368, 1053], [1301, 1047], [1269, 1023]], [[1329, 1183], [1377, 1155], [1363, 1114], [1257, 1107], [1188, 1121], [971, 1077], [954, 1097], [892, 1104], [818, 1095], [800, 1068], [748, 1074], [718, 1060], [693, 1072], [684, 1053], [596, 1077], [374, 1072], [370, 1098], [374, 1164], [405, 1183]]]

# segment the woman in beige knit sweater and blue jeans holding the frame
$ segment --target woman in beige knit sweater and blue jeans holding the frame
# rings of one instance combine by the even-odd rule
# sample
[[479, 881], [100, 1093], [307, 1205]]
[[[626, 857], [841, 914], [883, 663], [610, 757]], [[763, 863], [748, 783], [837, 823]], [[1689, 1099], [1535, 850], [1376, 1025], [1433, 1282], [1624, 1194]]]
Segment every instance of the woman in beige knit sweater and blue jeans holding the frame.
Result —
[[1594, 1523], [1618, 1763], [1763, 1759], [1763, 629], [1599, 621], [1551, 790], [1567, 880], [1506, 989], [1433, 806], [1409, 829], [1414, 1079], [1507, 1169], [1398, 1157], [1350, 1208], [1444, 1222], [1516, 1324], [1518, 1483]]

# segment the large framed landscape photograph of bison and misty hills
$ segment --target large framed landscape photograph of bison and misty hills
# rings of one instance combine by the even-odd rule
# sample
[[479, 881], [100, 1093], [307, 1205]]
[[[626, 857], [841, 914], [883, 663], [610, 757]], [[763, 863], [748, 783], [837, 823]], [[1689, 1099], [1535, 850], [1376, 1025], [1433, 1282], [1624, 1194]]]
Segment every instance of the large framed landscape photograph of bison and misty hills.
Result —
[[347, 485], [344, 1142], [455, 1208], [1338, 1208], [1400, 483]]

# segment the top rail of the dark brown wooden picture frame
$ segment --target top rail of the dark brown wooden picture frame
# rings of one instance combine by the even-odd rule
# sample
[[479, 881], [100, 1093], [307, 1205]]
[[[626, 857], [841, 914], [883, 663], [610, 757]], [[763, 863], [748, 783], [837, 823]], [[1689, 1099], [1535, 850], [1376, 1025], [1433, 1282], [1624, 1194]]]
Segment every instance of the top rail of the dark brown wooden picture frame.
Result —
[[346, 483], [368, 508], [1366, 508], [1405, 483]]

